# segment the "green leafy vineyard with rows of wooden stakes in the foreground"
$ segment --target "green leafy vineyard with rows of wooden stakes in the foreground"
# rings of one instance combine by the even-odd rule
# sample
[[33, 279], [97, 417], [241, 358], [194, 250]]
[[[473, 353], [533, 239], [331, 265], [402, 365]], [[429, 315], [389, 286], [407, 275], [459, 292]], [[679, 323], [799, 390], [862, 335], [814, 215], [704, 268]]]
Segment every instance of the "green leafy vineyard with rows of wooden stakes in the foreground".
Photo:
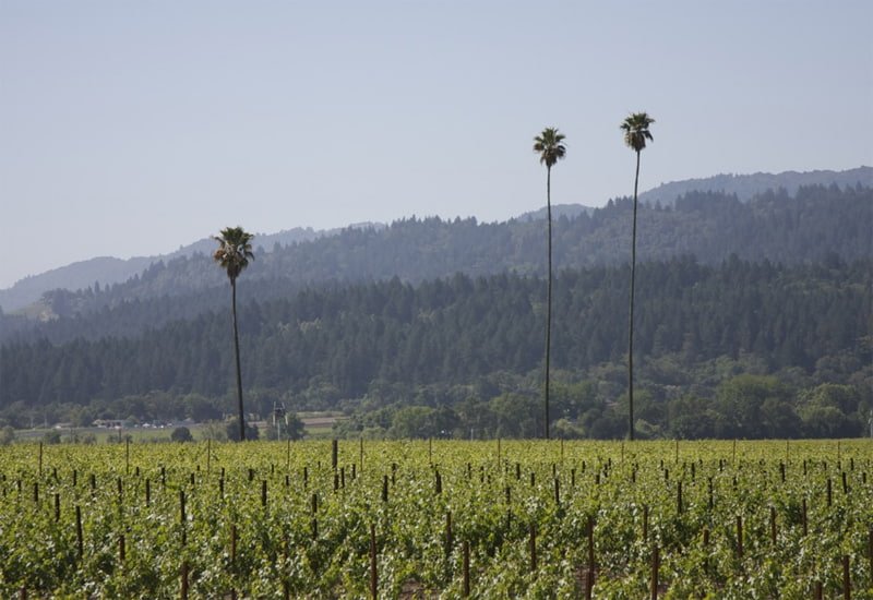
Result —
[[873, 441], [0, 448], [2, 598], [873, 598]]

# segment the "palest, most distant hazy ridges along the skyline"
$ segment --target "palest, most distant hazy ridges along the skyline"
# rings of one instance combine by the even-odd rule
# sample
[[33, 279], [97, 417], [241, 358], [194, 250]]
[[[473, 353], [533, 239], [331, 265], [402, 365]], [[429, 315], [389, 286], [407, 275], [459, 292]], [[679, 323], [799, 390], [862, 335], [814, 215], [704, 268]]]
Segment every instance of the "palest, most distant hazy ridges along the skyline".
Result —
[[[832, 184], [841, 188], [854, 187], [858, 184], [873, 187], [873, 168], [859, 167], [846, 171], [817, 170], [802, 173], [786, 171], [778, 175], [719, 175], [706, 179], [691, 179], [661, 184], [658, 188], [643, 192], [641, 194], [641, 200], [650, 203], [658, 201], [663, 205], [672, 205], [680, 195], [687, 194], [692, 191], [718, 191], [728, 195], [734, 194], [740, 201], [745, 202], [755, 194], [767, 190], [785, 189], [789, 194], [793, 195], [801, 185]], [[555, 220], [562, 217], [572, 219], [583, 214], [590, 216], [594, 211], [594, 208], [579, 204], [552, 206]], [[545, 217], [546, 208], [543, 207], [519, 215], [516, 220], [529, 223]], [[386, 226], [383, 224], [372, 223], [349, 226], [351, 229], [367, 230], [372, 228], [375, 231], [382, 230]], [[277, 247], [287, 247], [296, 242], [336, 236], [342, 231], [343, 229], [314, 231], [312, 228], [294, 228], [279, 231], [278, 233], [258, 235], [255, 238], [255, 249], [262, 248], [270, 252]], [[606, 242], [610, 245], [612, 243], [610, 240], [606, 240]], [[206, 238], [165, 255], [140, 256], [129, 260], [96, 257], [73, 263], [39, 275], [26, 277], [17, 281], [11, 288], [0, 290], [0, 309], [7, 313], [19, 311], [28, 304], [37, 302], [45, 292], [55, 289], [74, 291], [92, 287], [95, 283], [99, 283], [103, 287], [121, 284], [131, 277], [142, 275], [145, 269], [155, 263], [168, 263], [179, 257], [191, 257], [198, 253], [208, 255], [212, 253], [214, 241]], [[617, 250], [620, 251], [619, 249]], [[259, 252], [259, 254], [261, 253], [262, 252]], [[339, 273], [336, 275], [342, 276]], [[390, 276], [390, 274], [382, 274], [382, 276], [385, 275]]]

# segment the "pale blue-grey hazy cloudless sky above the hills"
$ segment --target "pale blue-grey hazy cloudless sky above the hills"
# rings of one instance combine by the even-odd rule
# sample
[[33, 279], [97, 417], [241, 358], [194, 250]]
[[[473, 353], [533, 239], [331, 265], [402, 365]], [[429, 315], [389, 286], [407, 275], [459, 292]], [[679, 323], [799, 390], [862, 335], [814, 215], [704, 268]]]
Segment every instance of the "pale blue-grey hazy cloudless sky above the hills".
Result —
[[[873, 2], [0, 0], [0, 288], [97, 255], [873, 164]], [[256, 243], [256, 240], [255, 240]], [[8, 254], [9, 256], [9, 254]]]

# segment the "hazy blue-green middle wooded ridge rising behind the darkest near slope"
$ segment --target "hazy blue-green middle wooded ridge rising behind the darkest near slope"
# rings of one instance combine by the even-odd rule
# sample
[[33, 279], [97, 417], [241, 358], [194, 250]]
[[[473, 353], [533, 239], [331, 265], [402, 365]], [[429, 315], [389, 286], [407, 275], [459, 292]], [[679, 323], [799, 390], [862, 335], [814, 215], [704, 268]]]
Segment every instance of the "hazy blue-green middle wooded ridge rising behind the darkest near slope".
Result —
[[[632, 202], [606, 207], [554, 225], [555, 269], [617, 265], [630, 260]], [[638, 259], [661, 261], [693, 255], [716, 265], [731, 255], [803, 264], [838, 256], [873, 256], [873, 189], [801, 188], [794, 196], [767, 192], [752, 202], [733, 195], [694, 192], [674, 206], [639, 208]], [[258, 244], [255, 238], [255, 245]], [[503, 272], [545, 274], [542, 221], [481, 224], [439, 218], [395, 221], [384, 229], [349, 228], [337, 236], [275, 244], [247, 269], [242, 299], [265, 301], [327, 283], [373, 281], [399, 277], [419, 283], [455, 273], [481, 276]], [[195, 254], [159, 262], [125, 284], [45, 296], [48, 314], [73, 316], [105, 311], [93, 326], [63, 322], [40, 327], [55, 341], [75, 336], [133, 335], [146, 326], [187, 319], [223, 305], [226, 278], [211, 256]], [[1, 314], [1, 313], [0, 313]], [[0, 341], [33, 323], [8, 317]]]

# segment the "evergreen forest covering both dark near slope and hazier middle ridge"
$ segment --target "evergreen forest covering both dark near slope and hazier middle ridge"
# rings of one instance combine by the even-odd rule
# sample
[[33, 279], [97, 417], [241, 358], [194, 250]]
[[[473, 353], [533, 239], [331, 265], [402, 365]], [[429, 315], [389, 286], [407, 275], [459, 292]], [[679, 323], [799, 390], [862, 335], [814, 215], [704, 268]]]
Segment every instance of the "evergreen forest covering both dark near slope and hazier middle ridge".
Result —
[[[555, 220], [553, 436], [626, 433], [631, 201]], [[836, 437], [873, 415], [873, 190], [642, 205], [641, 437]], [[339, 410], [347, 436], [542, 431], [545, 226], [412, 218], [258, 248], [239, 279], [247, 409]], [[211, 257], [0, 312], [0, 425], [222, 419], [226, 279]]]

